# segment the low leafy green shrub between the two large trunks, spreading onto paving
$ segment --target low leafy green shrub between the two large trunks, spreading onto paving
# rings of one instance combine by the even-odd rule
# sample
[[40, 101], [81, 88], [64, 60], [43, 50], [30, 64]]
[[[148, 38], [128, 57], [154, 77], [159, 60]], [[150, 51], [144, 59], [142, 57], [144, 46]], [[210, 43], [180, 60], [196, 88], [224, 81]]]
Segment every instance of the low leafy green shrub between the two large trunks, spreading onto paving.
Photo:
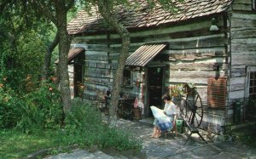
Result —
[[79, 136], [84, 145], [98, 145], [102, 148], [115, 147], [117, 150], [140, 149], [141, 142], [131, 133], [117, 128], [109, 128], [102, 122], [102, 115], [95, 107], [74, 99], [71, 111], [67, 113], [67, 133]]

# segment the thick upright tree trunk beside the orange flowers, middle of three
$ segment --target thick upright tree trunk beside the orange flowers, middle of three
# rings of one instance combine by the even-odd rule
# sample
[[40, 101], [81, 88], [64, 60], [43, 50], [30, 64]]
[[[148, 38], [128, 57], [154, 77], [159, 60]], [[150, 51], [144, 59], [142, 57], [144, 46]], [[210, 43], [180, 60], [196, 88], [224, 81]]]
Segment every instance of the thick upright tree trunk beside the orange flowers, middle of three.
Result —
[[67, 10], [65, 7], [65, 1], [55, 0], [55, 11], [57, 19], [57, 30], [61, 35], [59, 43], [59, 65], [58, 71], [60, 74], [61, 85], [61, 102], [64, 108], [64, 113], [70, 109], [71, 96], [69, 88], [69, 77], [67, 70], [67, 54], [69, 51], [71, 38], [67, 33]]

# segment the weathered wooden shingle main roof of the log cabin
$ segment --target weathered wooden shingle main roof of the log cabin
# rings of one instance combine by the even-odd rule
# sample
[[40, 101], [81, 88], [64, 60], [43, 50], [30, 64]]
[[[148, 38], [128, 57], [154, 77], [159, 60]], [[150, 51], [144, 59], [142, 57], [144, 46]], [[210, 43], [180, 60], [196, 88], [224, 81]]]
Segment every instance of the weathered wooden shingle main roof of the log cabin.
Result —
[[[150, 10], [145, 0], [141, 0], [136, 9], [119, 7], [117, 16], [128, 29], [152, 27], [223, 13], [229, 8], [230, 3], [232, 0], [184, 0], [184, 3], [176, 2], [180, 9], [177, 13], [170, 13], [160, 5]], [[90, 9], [90, 14], [80, 10], [67, 26], [67, 31], [71, 35], [106, 30], [111, 30], [111, 28], [108, 28], [96, 7]]]

